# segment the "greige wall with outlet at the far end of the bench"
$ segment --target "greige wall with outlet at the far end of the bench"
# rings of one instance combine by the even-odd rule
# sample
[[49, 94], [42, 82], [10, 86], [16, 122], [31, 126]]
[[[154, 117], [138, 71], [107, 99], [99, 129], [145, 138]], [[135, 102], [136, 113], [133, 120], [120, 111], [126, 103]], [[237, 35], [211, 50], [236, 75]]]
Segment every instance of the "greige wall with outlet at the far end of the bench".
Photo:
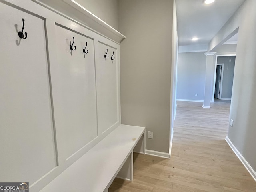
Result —
[[[168, 152], [173, 0], [119, 0], [122, 124], [145, 126], [146, 148]], [[175, 42], [176, 43], [176, 42]]]

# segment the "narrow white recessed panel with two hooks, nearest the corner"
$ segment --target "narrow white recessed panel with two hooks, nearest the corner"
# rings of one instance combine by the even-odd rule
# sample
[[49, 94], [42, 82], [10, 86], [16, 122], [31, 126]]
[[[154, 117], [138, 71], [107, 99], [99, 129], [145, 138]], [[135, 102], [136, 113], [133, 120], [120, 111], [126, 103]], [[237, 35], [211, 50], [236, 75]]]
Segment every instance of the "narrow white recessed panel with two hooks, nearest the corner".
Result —
[[[108, 49], [108, 53], [106, 54]], [[114, 60], [111, 56], [114, 51]], [[118, 65], [116, 49], [98, 42], [98, 62], [96, 63], [98, 129], [99, 134], [119, 121], [118, 107]], [[107, 58], [104, 58], [106, 54]]]

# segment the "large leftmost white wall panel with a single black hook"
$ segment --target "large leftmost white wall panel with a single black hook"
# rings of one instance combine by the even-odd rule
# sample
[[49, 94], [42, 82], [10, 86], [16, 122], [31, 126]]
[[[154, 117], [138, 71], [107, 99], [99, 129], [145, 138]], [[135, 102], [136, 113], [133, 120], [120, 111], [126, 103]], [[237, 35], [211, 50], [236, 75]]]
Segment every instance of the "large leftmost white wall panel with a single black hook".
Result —
[[0, 182], [32, 184], [56, 167], [44, 20], [1, 3], [0, 24]]

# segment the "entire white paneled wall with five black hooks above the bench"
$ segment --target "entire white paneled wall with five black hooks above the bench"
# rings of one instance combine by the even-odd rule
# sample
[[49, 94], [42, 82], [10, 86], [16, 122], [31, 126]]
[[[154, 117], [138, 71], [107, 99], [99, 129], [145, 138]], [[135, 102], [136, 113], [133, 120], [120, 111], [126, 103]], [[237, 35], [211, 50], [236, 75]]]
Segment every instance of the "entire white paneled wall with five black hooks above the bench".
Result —
[[0, 23], [0, 182], [39, 191], [120, 125], [119, 44], [30, 0]]

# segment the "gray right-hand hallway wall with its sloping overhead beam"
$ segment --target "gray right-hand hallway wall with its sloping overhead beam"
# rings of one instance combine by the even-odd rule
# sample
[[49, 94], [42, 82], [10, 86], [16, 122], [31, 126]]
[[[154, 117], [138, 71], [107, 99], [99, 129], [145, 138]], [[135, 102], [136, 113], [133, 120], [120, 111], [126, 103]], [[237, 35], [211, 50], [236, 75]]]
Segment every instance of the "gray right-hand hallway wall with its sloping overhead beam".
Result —
[[239, 27], [228, 138], [256, 170], [256, 1], [246, 0], [211, 40], [212, 50]]

